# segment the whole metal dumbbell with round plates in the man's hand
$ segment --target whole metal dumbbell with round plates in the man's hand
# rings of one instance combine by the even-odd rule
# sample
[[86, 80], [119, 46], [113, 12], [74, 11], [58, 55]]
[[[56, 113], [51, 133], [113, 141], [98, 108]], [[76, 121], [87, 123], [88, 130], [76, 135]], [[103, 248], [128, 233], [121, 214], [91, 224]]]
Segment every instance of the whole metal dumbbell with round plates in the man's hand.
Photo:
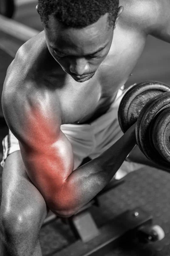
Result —
[[170, 169], [170, 85], [135, 84], [123, 96], [118, 120], [125, 133], [136, 122], [136, 142], [151, 161]]

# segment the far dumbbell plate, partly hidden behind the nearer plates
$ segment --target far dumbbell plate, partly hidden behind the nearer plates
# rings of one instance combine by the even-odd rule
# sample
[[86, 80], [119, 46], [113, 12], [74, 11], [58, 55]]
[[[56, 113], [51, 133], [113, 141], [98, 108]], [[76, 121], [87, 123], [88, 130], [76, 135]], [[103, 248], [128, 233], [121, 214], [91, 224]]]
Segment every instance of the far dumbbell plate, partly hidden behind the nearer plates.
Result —
[[154, 96], [170, 91], [170, 86], [158, 81], [145, 81], [130, 87], [118, 110], [119, 125], [125, 133], [133, 125], [144, 105]]

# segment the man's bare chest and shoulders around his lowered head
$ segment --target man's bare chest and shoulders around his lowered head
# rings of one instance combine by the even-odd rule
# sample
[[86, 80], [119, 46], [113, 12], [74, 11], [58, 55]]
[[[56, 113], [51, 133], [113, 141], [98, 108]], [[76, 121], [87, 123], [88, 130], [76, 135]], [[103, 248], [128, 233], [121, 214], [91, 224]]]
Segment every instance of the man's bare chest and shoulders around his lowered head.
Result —
[[[128, 21], [127, 12], [125, 8], [114, 30], [110, 52], [92, 79], [79, 83], [66, 74], [49, 53], [45, 34], [41, 32], [20, 48], [20, 56], [11, 64], [7, 80], [12, 79], [14, 72], [11, 70], [17, 66], [22, 83], [7, 82], [6, 91], [17, 92], [16, 102], [20, 102], [23, 95], [34, 96], [37, 92], [46, 98], [49, 96], [50, 100], [53, 93], [59, 100], [62, 124], [89, 123], [98, 118], [109, 109], [144, 49], [146, 35]], [[30, 79], [34, 83], [29, 84]]]

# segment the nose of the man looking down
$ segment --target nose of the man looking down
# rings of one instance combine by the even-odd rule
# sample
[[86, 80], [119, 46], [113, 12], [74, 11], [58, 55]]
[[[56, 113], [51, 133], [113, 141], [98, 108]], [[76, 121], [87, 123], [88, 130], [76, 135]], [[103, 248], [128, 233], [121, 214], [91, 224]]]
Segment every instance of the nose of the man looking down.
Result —
[[85, 73], [89, 73], [89, 64], [85, 58], [77, 58], [70, 64], [71, 73], [76, 76], [82, 76]]

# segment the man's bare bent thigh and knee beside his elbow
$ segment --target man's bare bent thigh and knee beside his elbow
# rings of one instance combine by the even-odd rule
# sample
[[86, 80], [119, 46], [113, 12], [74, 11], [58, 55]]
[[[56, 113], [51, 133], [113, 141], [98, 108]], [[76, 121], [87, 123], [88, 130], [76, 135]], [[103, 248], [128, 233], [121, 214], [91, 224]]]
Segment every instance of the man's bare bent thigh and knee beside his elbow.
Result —
[[[20, 152], [6, 159], [0, 206], [1, 234], [30, 233], [40, 229], [48, 208], [45, 200], [27, 177]], [[37, 230], [36, 230], [37, 229]]]

